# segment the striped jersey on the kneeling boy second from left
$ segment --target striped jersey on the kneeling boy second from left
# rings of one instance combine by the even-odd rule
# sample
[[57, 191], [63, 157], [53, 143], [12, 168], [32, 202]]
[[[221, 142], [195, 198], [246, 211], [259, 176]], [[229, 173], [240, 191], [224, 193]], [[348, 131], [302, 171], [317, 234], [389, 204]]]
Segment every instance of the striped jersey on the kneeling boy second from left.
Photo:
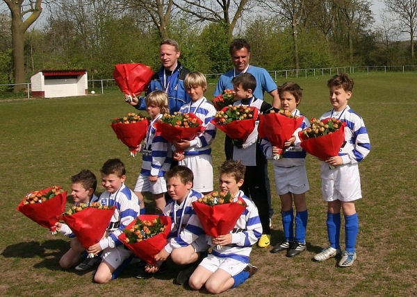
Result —
[[123, 229], [136, 219], [139, 214], [140, 202], [138, 196], [122, 183], [122, 186], [115, 192], [109, 193], [107, 191], [100, 195], [99, 202], [101, 205], [113, 206], [115, 205], [115, 212], [110, 219], [108, 237], [99, 241], [102, 249], [114, 248], [122, 244], [117, 237], [122, 234]]

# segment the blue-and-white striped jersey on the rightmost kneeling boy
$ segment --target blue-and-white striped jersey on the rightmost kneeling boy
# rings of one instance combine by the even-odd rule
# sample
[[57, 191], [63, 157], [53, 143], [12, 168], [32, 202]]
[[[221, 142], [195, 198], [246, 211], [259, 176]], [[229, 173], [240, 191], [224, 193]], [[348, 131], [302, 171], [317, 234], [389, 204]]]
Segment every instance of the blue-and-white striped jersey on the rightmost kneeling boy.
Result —
[[[249, 263], [250, 252], [252, 251], [252, 245], [261, 238], [262, 225], [261, 219], [259, 219], [258, 209], [247, 198], [243, 191], [239, 191], [235, 196], [234, 201], [238, 201], [238, 197], [243, 198], [247, 207], [240, 215], [238, 221], [233, 230], [231, 230], [231, 244], [222, 246], [220, 250], [213, 248], [211, 253], [216, 257], [230, 257], [240, 262]], [[207, 235], [207, 243], [213, 246], [211, 242], [211, 236]]]

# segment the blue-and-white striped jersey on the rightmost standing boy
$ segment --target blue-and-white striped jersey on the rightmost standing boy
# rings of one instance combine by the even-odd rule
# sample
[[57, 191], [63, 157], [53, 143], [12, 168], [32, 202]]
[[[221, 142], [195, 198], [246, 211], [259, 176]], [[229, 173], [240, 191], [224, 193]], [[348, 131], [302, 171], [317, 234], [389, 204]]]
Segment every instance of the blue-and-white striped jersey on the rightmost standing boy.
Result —
[[345, 121], [345, 144], [338, 155], [342, 157], [343, 164], [357, 164], [370, 152], [370, 141], [363, 119], [350, 109], [349, 105], [341, 112], [329, 110], [320, 117], [320, 120], [336, 118]]

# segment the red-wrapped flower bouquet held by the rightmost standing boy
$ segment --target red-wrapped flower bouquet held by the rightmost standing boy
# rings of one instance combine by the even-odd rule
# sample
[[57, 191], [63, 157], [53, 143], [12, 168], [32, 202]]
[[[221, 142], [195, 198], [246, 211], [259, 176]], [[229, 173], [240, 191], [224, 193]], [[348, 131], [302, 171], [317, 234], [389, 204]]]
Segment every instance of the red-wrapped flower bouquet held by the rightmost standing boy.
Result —
[[304, 148], [304, 151], [320, 160], [338, 155], [338, 151], [345, 141], [346, 123], [335, 118], [327, 118], [322, 121], [312, 118], [310, 124], [311, 127], [298, 134], [301, 139], [300, 146]]

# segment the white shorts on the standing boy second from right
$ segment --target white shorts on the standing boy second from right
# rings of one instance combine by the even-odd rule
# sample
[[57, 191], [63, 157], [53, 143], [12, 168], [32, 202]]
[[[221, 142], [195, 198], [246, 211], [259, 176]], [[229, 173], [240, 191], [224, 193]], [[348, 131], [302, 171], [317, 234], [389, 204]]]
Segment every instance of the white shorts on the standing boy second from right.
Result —
[[303, 194], [310, 189], [305, 166], [274, 166], [274, 173], [275, 189], [278, 195], [284, 195], [288, 192]]

